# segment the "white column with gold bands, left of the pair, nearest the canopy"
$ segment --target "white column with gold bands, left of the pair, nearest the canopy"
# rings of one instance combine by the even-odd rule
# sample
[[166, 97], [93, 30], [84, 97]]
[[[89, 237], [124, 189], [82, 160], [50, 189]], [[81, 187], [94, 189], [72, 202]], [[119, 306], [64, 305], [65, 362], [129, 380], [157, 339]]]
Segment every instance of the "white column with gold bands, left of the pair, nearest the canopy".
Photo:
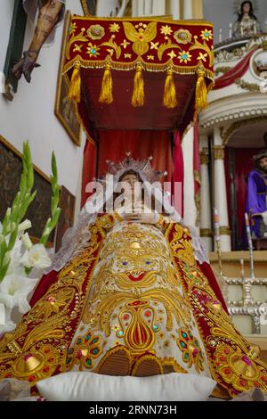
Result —
[[[204, 145], [204, 147], [203, 147]], [[206, 250], [213, 250], [213, 235], [212, 235], [212, 215], [211, 215], [211, 201], [210, 201], [210, 185], [208, 175], [209, 154], [207, 148], [207, 137], [200, 136], [200, 173], [201, 173], [201, 188], [200, 188], [200, 235], [204, 242], [206, 242]]]

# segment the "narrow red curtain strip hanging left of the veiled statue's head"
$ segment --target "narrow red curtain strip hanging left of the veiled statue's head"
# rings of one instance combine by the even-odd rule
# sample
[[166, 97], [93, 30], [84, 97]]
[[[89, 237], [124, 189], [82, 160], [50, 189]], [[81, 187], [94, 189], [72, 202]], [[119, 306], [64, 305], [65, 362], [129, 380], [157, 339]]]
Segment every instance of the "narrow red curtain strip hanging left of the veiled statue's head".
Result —
[[84, 167], [83, 167], [83, 178], [82, 178], [82, 197], [81, 207], [85, 205], [85, 201], [89, 196], [89, 193], [85, 193], [85, 188], [88, 182], [93, 180], [96, 171], [96, 160], [97, 160], [97, 146], [93, 140], [86, 140], [84, 150]]

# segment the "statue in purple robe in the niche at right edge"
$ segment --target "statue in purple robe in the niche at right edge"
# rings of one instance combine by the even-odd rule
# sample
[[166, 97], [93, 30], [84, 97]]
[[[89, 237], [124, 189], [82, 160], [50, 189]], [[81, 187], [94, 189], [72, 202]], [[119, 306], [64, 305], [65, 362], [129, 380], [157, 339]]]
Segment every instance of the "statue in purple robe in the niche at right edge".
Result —
[[[267, 133], [264, 134], [267, 144]], [[255, 237], [267, 237], [267, 148], [254, 156], [255, 169], [247, 177], [246, 211]]]

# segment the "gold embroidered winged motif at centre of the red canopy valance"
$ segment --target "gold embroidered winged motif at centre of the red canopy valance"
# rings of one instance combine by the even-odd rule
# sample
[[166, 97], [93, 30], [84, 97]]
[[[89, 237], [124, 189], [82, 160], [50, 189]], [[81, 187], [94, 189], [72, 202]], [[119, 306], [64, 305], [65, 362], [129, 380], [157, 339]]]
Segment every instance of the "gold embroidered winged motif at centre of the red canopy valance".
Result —
[[151, 21], [147, 28], [139, 27], [138, 30], [134, 28], [131, 22], [123, 22], [125, 29], [125, 36], [132, 41], [133, 51], [139, 56], [147, 53], [150, 49], [149, 42], [157, 36], [157, 21]]

